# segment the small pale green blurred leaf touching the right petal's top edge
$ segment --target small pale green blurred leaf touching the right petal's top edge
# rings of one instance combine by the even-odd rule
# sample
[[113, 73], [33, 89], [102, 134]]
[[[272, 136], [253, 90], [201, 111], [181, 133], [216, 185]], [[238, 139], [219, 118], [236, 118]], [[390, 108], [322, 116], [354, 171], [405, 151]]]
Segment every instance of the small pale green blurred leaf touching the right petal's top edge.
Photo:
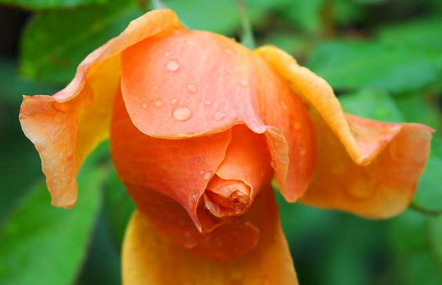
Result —
[[392, 98], [382, 90], [367, 88], [339, 97], [345, 112], [380, 121], [403, 121]]

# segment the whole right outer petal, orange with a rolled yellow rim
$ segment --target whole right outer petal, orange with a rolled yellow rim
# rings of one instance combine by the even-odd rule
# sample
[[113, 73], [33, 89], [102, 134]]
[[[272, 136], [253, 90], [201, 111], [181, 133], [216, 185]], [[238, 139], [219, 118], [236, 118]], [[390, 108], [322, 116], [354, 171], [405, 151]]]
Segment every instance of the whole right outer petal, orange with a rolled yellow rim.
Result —
[[432, 128], [345, 115], [324, 79], [278, 48], [258, 53], [311, 106], [317, 165], [302, 202], [372, 218], [400, 213], [425, 166]]

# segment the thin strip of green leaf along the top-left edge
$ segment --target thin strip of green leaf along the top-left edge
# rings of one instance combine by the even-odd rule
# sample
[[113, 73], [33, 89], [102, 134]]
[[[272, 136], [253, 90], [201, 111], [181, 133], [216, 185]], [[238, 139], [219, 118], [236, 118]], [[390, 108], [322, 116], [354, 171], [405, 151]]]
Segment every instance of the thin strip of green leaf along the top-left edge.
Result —
[[0, 3], [30, 10], [74, 8], [91, 4], [103, 4], [110, 0], [0, 0]]

